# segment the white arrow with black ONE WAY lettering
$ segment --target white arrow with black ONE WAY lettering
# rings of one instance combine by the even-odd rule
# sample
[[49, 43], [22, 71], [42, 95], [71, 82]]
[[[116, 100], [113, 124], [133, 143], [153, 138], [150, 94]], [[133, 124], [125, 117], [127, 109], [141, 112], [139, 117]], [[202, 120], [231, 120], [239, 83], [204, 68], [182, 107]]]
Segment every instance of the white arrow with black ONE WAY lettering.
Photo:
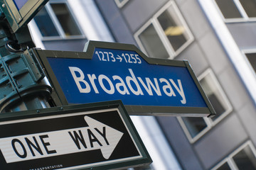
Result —
[[100, 149], [109, 159], [123, 132], [85, 115], [87, 127], [42, 132], [0, 139], [0, 149], [7, 163], [55, 157]]

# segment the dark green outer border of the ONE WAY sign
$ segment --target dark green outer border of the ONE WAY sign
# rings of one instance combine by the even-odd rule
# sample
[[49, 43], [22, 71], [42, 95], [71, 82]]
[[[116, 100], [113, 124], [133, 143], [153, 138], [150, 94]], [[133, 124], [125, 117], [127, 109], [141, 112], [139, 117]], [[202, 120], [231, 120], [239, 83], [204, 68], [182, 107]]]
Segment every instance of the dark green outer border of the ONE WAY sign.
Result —
[[[119, 113], [122, 115], [125, 125], [127, 125], [127, 129], [132, 135], [134, 142], [136, 143], [139, 152], [142, 154], [141, 158], [136, 158], [132, 160], [125, 160], [121, 162], [114, 163], [105, 163], [100, 166], [92, 166], [90, 168], [82, 168], [82, 169], [117, 169], [117, 168], [129, 168], [136, 166], [144, 166], [151, 164], [152, 160], [149, 156], [149, 153], [144, 146], [142, 139], [139, 137], [139, 134], [134, 127], [131, 118], [129, 118], [129, 114], [124, 108], [122, 101], [107, 101], [107, 102], [99, 102], [99, 103], [90, 103], [90, 104], [79, 104], [72, 106], [61, 106], [54, 108], [42, 108], [38, 110], [31, 111], [19, 111], [14, 113], [2, 113], [0, 115], [0, 122], [6, 122], [11, 120], [23, 120], [28, 118], [41, 118], [52, 115], [65, 115], [70, 113], [80, 113], [80, 112], [89, 112], [89, 111], [101, 111], [111, 108], [117, 108]], [[71, 167], [70, 167], [71, 168]]]

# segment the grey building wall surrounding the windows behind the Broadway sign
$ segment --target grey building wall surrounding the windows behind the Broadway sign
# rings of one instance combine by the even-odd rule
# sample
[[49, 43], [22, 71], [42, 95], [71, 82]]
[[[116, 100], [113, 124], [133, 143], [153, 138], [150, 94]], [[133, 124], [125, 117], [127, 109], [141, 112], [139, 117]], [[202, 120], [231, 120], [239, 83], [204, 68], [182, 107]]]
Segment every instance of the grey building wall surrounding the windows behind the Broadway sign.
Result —
[[[168, 2], [130, 0], [118, 8], [114, 0], [95, 1], [117, 42], [132, 44], [137, 44], [134, 33]], [[176, 5], [194, 40], [175, 60], [188, 60], [197, 76], [211, 68], [233, 111], [193, 144], [188, 141], [176, 118], [158, 117], [157, 120], [183, 169], [210, 169], [245, 141], [252, 140], [256, 144], [255, 105], [198, 1], [176, 0]], [[228, 24], [241, 49], [256, 46], [253, 27], [255, 23]]]

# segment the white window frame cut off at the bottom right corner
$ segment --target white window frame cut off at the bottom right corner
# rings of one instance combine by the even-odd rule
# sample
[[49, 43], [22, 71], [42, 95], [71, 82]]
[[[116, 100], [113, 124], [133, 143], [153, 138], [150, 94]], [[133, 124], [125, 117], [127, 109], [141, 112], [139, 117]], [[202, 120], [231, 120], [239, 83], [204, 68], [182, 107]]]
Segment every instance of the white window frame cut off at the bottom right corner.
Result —
[[237, 149], [235, 149], [231, 154], [228, 155], [228, 157], [225, 157], [225, 159], [223, 159], [221, 162], [219, 162], [218, 164], [216, 164], [211, 170], [218, 170], [218, 168], [220, 168], [220, 166], [222, 166], [223, 164], [225, 164], [226, 162], [228, 163], [228, 166], [230, 166], [230, 169], [232, 170], [239, 170], [238, 166], [235, 164], [235, 161], [233, 160], [233, 157], [235, 156], [235, 154], [238, 154], [238, 152], [242, 151], [242, 149], [244, 149], [245, 147], [249, 146], [250, 149], [252, 150], [252, 153], [255, 155], [256, 157], [256, 149], [255, 146], [252, 144], [252, 142], [250, 140], [248, 140], [247, 142], [245, 142], [244, 144], [242, 144], [240, 147], [238, 147]]

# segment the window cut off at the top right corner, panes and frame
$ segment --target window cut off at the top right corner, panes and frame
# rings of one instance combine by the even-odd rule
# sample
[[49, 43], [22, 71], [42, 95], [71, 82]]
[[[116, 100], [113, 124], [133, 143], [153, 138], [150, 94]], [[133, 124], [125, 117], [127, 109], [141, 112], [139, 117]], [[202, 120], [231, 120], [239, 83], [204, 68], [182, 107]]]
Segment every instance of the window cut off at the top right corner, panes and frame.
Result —
[[255, 0], [215, 0], [226, 21], [248, 21], [256, 18]]

